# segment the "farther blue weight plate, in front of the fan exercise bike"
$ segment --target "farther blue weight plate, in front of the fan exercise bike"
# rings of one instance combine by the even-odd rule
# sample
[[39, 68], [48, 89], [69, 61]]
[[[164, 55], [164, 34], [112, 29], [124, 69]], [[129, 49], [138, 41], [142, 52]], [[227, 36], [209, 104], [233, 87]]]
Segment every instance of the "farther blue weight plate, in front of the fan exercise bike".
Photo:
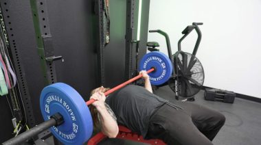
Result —
[[159, 51], [147, 53], [139, 62], [139, 70], [150, 70], [155, 68], [155, 71], [150, 72], [150, 83], [152, 85], [161, 85], [168, 81], [172, 75], [172, 63], [167, 55]]

